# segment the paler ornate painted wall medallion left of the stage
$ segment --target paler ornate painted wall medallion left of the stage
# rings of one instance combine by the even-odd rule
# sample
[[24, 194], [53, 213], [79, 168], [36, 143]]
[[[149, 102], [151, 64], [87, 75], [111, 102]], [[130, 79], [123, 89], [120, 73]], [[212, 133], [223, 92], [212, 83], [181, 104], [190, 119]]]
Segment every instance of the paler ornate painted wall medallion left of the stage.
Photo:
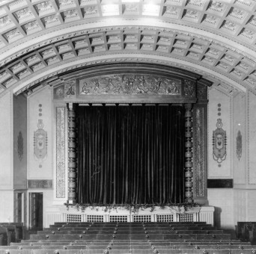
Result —
[[42, 161], [47, 155], [47, 132], [43, 130], [43, 120], [39, 119], [37, 123], [37, 131], [34, 131], [34, 158], [40, 162], [39, 167], [42, 167]]

